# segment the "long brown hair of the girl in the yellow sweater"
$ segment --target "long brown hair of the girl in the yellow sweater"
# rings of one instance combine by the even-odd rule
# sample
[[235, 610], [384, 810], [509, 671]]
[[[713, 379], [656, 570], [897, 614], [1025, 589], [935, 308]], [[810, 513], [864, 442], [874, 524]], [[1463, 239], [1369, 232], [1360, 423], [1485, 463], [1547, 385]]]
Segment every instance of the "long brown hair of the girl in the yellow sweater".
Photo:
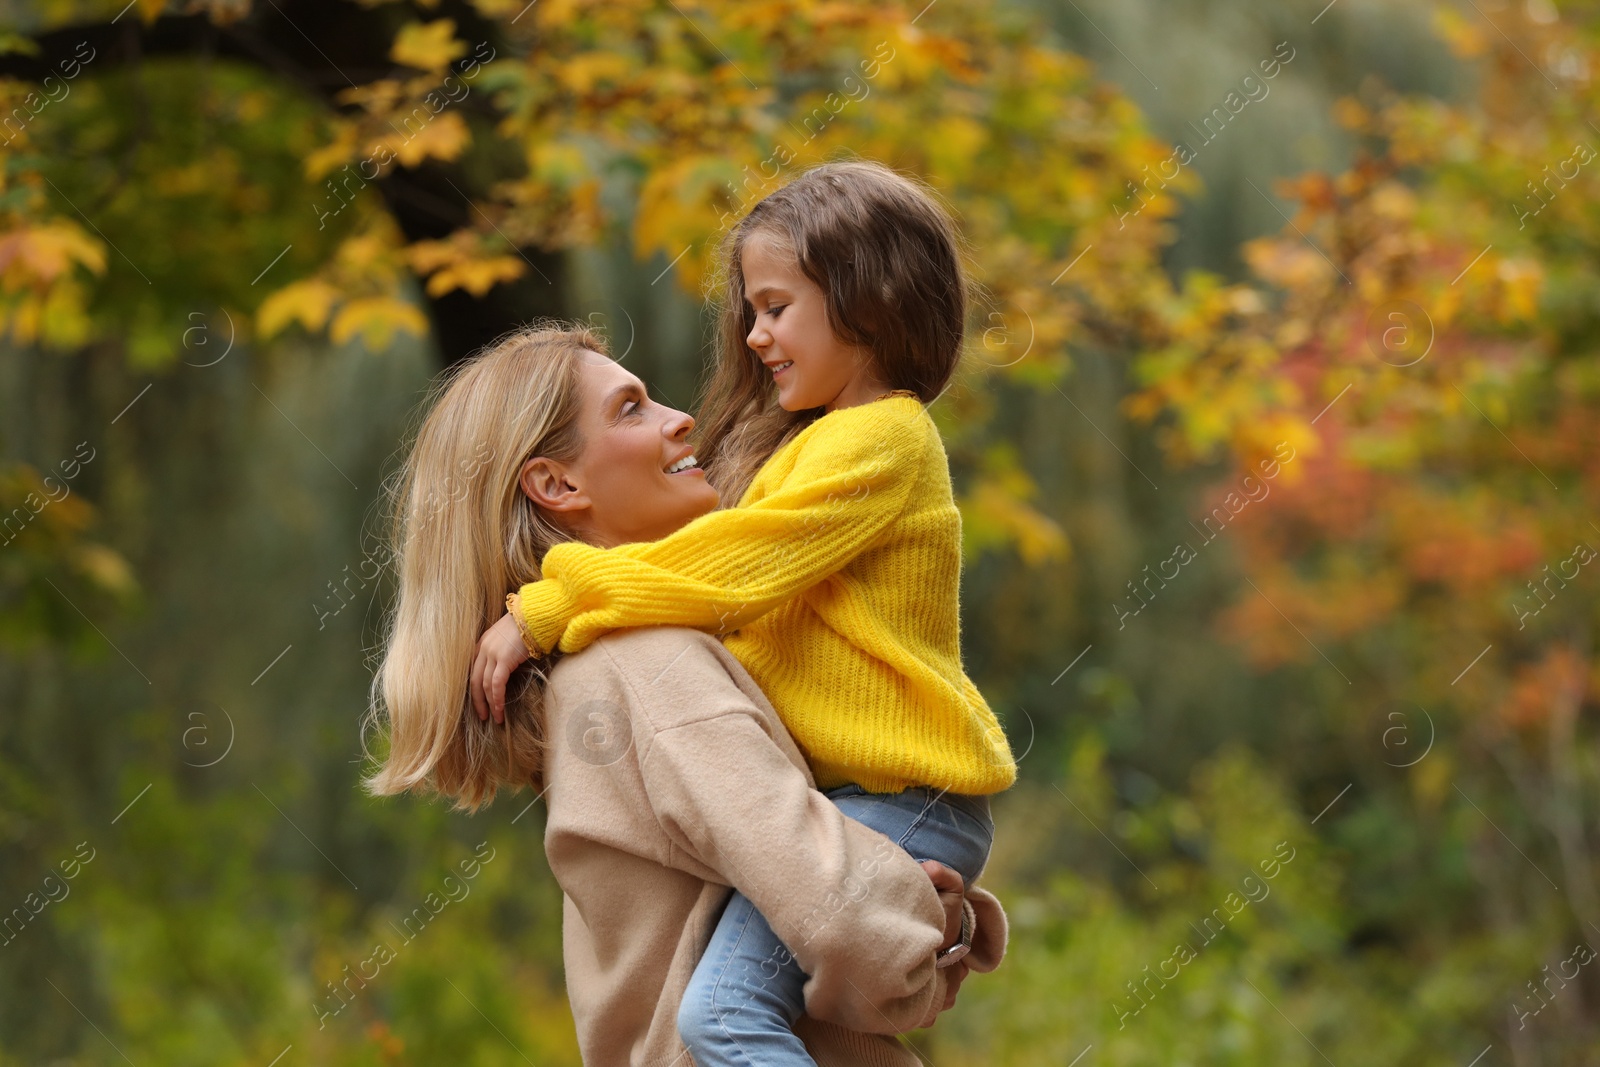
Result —
[[701, 403], [701, 466], [725, 504], [821, 408], [784, 411], [771, 373], [746, 344], [741, 253], [757, 234], [792, 254], [826, 294], [845, 344], [872, 352], [878, 378], [931, 403], [955, 373], [968, 282], [950, 211], [925, 184], [869, 160], [814, 166], [758, 202], [718, 246], [717, 368]]

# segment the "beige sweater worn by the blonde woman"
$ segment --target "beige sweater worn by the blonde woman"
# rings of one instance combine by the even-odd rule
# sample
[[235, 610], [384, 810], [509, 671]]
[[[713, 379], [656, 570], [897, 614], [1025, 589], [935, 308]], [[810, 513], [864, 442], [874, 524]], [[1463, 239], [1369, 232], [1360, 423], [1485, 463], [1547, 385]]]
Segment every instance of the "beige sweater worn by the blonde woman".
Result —
[[[690, 1067], [677, 1011], [738, 886], [810, 976], [797, 1032], [827, 1065], [914, 1065], [891, 1033], [944, 1001], [942, 909], [890, 838], [843, 816], [760, 688], [698, 630], [621, 630], [568, 656], [546, 697], [544, 846], [562, 886], [566, 993], [589, 1067]], [[970, 891], [968, 963], [1005, 913]]]

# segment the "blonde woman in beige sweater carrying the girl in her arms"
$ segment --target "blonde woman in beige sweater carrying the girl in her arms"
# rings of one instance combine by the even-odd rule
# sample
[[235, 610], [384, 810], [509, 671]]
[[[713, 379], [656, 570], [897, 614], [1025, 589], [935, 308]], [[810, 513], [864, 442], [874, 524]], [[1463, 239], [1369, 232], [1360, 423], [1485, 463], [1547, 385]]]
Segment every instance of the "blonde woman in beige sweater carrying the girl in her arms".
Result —
[[437, 384], [394, 486], [400, 592], [373, 686], [389, 753], [368, 789], [477, 809], [542, 784], [586, 1062], [688, 1062], [678, 1001], [738, 886], [810, 976], [798, 1032], [816, 1061], [914, 1064], [885, 1035], [930, 1024], [968, 966], [998, 963], [998, 902], [968, 893], [971, 955], [936, 966], [950, 923], [934, 885], [958, 877], [923, 870], [811, 789], [715, 638], [621, 632], [549, 678], [525, 667], [504, 726], [466, 696], [478, 635], [550, 545], [656, 539], [717, 506], [701, 472], [669, 470], [691, 426], [586, 330], [518, 331]]

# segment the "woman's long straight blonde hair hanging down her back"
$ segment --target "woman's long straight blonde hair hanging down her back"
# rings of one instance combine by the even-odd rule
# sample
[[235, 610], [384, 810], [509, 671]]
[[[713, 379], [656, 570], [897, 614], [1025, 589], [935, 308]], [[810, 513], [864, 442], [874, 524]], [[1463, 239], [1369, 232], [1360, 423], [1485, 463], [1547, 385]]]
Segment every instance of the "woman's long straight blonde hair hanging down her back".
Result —
[[387, 725], [387, 753], [362, 784], [373, 795], [453, 798], [477, 811], [499, 789], [541, 789], [544, 678], [530, 659], [506, 688], [506, 723], [480, 721], [467, 675], [506, 593], [539, 579], [544, 553], [573, 536], [522, 491], [533, 456], [576, 459], [579, 366], [606, 355], [587, 328], [539, 322], [442, 374], [414, 443], [386, 485], [386, 536], [398, 592], [384, 621], [365, 726]]

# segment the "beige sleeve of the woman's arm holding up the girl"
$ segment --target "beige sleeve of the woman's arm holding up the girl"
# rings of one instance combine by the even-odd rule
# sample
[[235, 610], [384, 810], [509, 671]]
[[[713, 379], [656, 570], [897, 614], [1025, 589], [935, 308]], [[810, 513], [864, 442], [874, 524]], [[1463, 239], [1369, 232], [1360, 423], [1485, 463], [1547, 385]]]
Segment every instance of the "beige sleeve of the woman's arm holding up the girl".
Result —
[[[642, 705], [682, 704], [674, 680], [635, 683]], [[662, 672], [667, 673], [667, 672]], [[658, 729], [638, 766], [674, 851], [744, 893], [810, 976], [806, 1013], [851, 1030], [915, 1029], [944, 1001], [934, 968], [944, 910], [926, 872], [888, 837], [810, 787], [731, 685], [701, 689], [706, 713]], [[675, 864], [672, 864], [675, 865]]]

